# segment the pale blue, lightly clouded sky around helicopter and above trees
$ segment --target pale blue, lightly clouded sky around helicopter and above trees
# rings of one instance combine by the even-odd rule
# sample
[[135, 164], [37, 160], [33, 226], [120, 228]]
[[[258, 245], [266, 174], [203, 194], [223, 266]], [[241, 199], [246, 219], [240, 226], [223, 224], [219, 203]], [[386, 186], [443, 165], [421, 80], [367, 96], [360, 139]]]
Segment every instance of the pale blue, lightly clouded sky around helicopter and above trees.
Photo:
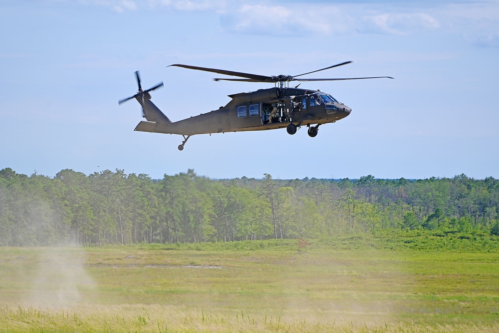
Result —
[[[497, 0], [0, 0], [0, 169], [153, 179], [499, 178]], [[266, 83], [213, 81], [174, 63], [259, 75], [392, 76], [303, 82], [352, 108], [302, 127], [195, 135], [134, 132], [135, 100], [178, 121]], [[305, 76], [304, 76], [305, 77]]]

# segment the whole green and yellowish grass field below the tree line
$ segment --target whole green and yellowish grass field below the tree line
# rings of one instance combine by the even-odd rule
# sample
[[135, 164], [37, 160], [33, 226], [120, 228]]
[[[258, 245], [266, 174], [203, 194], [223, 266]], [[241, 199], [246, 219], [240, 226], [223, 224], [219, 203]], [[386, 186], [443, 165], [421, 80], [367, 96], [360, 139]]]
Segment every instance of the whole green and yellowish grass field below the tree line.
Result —
[[499, 332], [499, 253], [337, 244], [0, 248], [0, 332]]

